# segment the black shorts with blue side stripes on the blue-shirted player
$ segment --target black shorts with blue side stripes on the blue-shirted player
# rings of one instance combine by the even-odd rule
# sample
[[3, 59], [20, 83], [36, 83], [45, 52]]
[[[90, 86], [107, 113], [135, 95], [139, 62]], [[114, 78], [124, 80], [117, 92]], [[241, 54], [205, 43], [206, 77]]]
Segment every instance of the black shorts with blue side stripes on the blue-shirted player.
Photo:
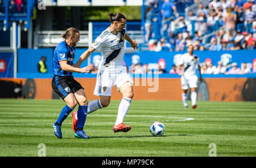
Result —
[[52, 89], [64, 100], [69, 93], [76, 93], [79, 89], [84, 89], [73, 76], [52, 77]]

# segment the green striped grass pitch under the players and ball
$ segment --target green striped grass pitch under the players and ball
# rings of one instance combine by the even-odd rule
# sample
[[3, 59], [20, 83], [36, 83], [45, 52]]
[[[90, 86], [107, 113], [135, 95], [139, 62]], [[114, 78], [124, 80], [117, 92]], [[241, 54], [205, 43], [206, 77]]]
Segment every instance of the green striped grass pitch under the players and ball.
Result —
[[[38, 156], [42, 143], [46, 156], [208, 157], [212, 143], [220, 157], [256, 156], [256, 102], [199, 101], [185, 110], [181, 101], [134, 100], [124, 120], [131, 131], [114, 133], [119, 102], [87, 116], [91, 139], [74, 137], [71, 114], [57, 139], [52, 124], [63, 101], [0, 99], [0, 156]], [[155, 121], [164, 124], [163, 136], [151, 135]]]

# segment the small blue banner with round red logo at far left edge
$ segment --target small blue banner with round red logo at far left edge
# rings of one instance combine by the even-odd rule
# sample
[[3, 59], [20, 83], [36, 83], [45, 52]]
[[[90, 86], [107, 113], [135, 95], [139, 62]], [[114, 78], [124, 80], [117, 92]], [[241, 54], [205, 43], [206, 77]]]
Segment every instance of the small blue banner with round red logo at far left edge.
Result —
[[0, 77], [13, 77], [13, 64], [13, 53], [0, 53]]

